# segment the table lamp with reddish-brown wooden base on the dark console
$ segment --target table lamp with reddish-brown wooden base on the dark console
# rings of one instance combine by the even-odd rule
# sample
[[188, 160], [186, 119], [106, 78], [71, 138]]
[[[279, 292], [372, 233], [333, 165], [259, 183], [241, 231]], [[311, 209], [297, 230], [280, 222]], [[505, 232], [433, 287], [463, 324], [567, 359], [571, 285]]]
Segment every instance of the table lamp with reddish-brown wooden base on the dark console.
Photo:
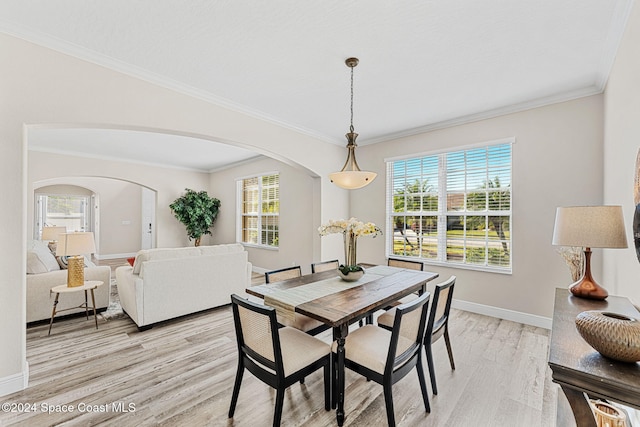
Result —
[[626, 248], [621, 206], [572, 206], [556, 210], [553, 245], [584, 248], [582, 278], [569, 290], [577, 297], [604, 300], [609, 293], [591, 276], [591, 248]]

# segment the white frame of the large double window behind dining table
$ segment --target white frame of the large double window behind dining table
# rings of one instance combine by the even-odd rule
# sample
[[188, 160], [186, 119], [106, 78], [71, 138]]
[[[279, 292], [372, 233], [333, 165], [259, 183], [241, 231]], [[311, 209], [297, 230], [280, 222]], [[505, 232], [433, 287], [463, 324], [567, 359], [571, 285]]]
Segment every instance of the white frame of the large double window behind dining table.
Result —
[[[476, 270], [476, 271], [486, 271], [486, 272], [492, 272], [492, 273], [512, 274], [513, 259], [514, 259], [513, 257], [513, 147], [514, 147], [514, 144], [515, 144], [515, 137], [509, 137], [509, 138], [503, 138], [503, 139], [494, 140], [494, 141], [482, 142], [478, 144], [472, 144], [472, 145], [460, 146], [455, 148], [423, 152], [423, 153], [385, 159], [385, 165], [386, 165], [385, 218], [386, 218], [386, 231], [387, 231], [387, 233], [385, 234], [385, 240], [386, 240], [385, 255], [387, 256], [387, 258], [394, 257], [394, 258], [402, 258], [407, 260], [419, 260], [429, 265], [437, 265], [437, 266]], [[476, 192], [472, 191], [472, 189], [470, 188], [467, 189], [465, 187], [465, 191], [463, 192], [464, 203], [462, 205], [462, 210], [461, 211], [448, 210], [448, 206], [447, 206], [447, 203], [448, 203], [447, 172], [448, 170], [447, 170], [447, 160], [446, 160], [447, 156], [455, 153], [463, 153], [464, 155], [464, 153], [468, 153], [474, 150], [477, 151], [478, 149], [489, 150], [491, 147], [496, 147], [500, 145], [509, 145], [509, 161], [508, 161], [509, 183], [508, 185], [506, 185], [506, 188], [508, 188], [509, 190], [508, 209], [489, 210], [490, 202], [487, 201], [486, 209], [477, 210], [477, 211], [469, 210], [467, 196], [469, 194], [476, 193]], [[394, 211], [394, 172], [393, 172], [394, 163], [399, 161], [407, 161], [407, 160], [416, 160], [416, 161], [422, 162], [425, 158], [428, 158], [428, 157], [435, 157], [438, 159], [437, 186], [435, 188], [435, 191], [429, 191], [429, 192], [424, 191], [425, 187], [423, 187], [421, 194], [424, 195], [424, 194], [430, 193], [430, 194], [435, 194], [437, 196], [436, 210], [423, 210], [425, 208], [424, 198], [423, 198], [422, 204], [419, 206], [418, 211], [407, 210], [407, 207], [405, 205], [403, 211], [395, 212]], [[490, 170], [489, 161], [490, 159], [487, 158], [486, 160], [487, 175], [489, 175], [488, 171]], [[468, 168], [467, 163], [465, 163], [465, 167], [462, 171], [465, 177], [466, 177], [466, 173], [468, 173], [469, 170], [470, 168]], [[434, 171], [432, 170], [431, 175], [435, 178], [436, 175], [433, 172]], [[406, 171], [404, 173], [405, 177], [411, 177], [411, 175], [412, 175], [411, 173], [407, 173]], [[424, 170], [421, 169], [419, 172], [419, 179], [422, 181], [423, 177], [425, 177], [426, 175], [428, 175], [428, 173], [426, 173]], [[491, 180], [492, 178], [488, 178], [488, 179]], [[487, 190], [487, 192], [490, 192], [490, 190]], [[421, 252], [419, 256], [394, 254], [394, 241], [396, 240], [395, 239], [396, 222], [394, 221], [394, 219], [396, 219], [397, 217], [410, 218], [412, 216], [420, 217], [421, 219], [420, 226], [422, 226], [425, 223], [424, 221], [426, 219], [425, 217], [435, 217], [435, 220], [437, 223], [437, 232], [435, 236], [431, 236], [431, 240], [434, 242], [434, 246], [437, 245], [437, 255], [435, 258], [423, 256], [422, 251], [425, 249], [426, 245], [424, 245], [422, 242], [419, 242], [419, 251]], [[463, 217], [464, 221], [466, 221], [467, 217], [478, 217], [478, 216], [484, 217], [485, 221], [487, 221], [485, 224], [488, 224], [489, 218], [492, 216], [508, 217], [508, 227], [509, 227], [508, 237], [504, 241], [501, 239], [497, 239], [497, 241], [500, 242], [501, 244], [503, 242], [506, 242], [506, 244], [508, 245], [509, 258], [508, 258], [507, 266], [502, 267], [498, 265], [492, 265], [489, 263], [490, 257], [489, 257], [488, 245], [490, 242], [496, 241], [496, 239], [489, 239], [488, 234], [485, 235], [484, 237], [485, 241], [482, 246], [485, 249], [483, 262], [482, 263], [469, 262], [466, 258], [467, 255], [469, 254], [467, 252], [467, 249], [470, 247], [468, 243], [471, 241], [474, 241], [474, 238], [473, 237], [469, 238], [467, 236], [466, 231], [468, 231], [468, 229], [466, 229], [466, 225], [464, 227], [465, 231], [463, 233], [463, 242], [462, 242], [463, 260], [455, 261], [455, 260], [447, 259], [448, 258], [448, 254], [447, 254], [448, 218]], [[466, 222], [464, 224], [466, 224]], [[404, 227], [404, 230], [408, 230], [406, 220], [403, 221], [403, 227]], [[487, 227], [485, 226], [485, 228]], [[420, 237], [420, 239], [424, 239], [424, 238], [425, 237], [422, 234], [422, 237]], [[416, 239], [418, 239], [418, 237], [416, 237]], [[408, 239], [406, 241], [409, 242]], [[475, 240], [475, 241], [477, 242], [478, 240]]]

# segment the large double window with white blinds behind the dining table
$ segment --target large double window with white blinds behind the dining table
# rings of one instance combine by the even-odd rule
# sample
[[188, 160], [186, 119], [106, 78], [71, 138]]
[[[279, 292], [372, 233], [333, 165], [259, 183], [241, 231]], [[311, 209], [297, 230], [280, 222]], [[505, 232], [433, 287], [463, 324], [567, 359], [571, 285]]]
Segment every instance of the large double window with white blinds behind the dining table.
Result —
[[512, 143], [387, 160], [388, 254], [511, 272]]

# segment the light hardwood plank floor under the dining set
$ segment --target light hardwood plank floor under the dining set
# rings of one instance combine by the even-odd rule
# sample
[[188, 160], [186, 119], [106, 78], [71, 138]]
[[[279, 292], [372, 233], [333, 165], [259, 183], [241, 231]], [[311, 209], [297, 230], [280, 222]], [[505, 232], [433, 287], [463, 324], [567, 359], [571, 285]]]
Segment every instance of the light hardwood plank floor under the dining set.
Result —
[[[398, 426], [555, 425], [557, 386], [547, 368], [549, 331], [458, 310], [452, 310], [450, 327], [457, 369], [449, 367], [444, 342], [436, 343], [439, 394], [430, 393], [431, 413], [424, 412], [417, 376], [410, 374], [394, 386]], [[33, 405], [35, 411], [0, 412], [2, 426], [272, 423], [275, 392], [249, 373], [235, 417], [227, 418], [237, 363], [229, 307], [145, 332], [138, 332], [128, 317], [101, 317], [98, 330], [93, 319], [84, 318], [55, 323], [51, 336], [47, 328], [27, 330], [29, 387], [0, 398], [2, 403]], [[328, 341], [329, 333], [322, 337]], [[45, 404], [74, 409], [60, 407], [60, 412], [47, 414], [42, 412]], [[382, 387], [352, 372], [346, 377], [345, 409], [345, 426], [386, 425]], [[321, 371], [287, 391], [282, 425], [336, 425], [335, 412], [324, 410]]]

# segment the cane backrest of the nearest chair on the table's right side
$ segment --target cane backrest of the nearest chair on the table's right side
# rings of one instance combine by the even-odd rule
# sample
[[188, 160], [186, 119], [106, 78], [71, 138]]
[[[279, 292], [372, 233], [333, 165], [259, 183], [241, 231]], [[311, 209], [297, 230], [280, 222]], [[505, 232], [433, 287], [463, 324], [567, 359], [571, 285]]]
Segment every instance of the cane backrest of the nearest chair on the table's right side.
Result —
[[429, 292], [425, 292], [396, 307], [385, 370], [395, 370], [421, 351], [429, 298]]

